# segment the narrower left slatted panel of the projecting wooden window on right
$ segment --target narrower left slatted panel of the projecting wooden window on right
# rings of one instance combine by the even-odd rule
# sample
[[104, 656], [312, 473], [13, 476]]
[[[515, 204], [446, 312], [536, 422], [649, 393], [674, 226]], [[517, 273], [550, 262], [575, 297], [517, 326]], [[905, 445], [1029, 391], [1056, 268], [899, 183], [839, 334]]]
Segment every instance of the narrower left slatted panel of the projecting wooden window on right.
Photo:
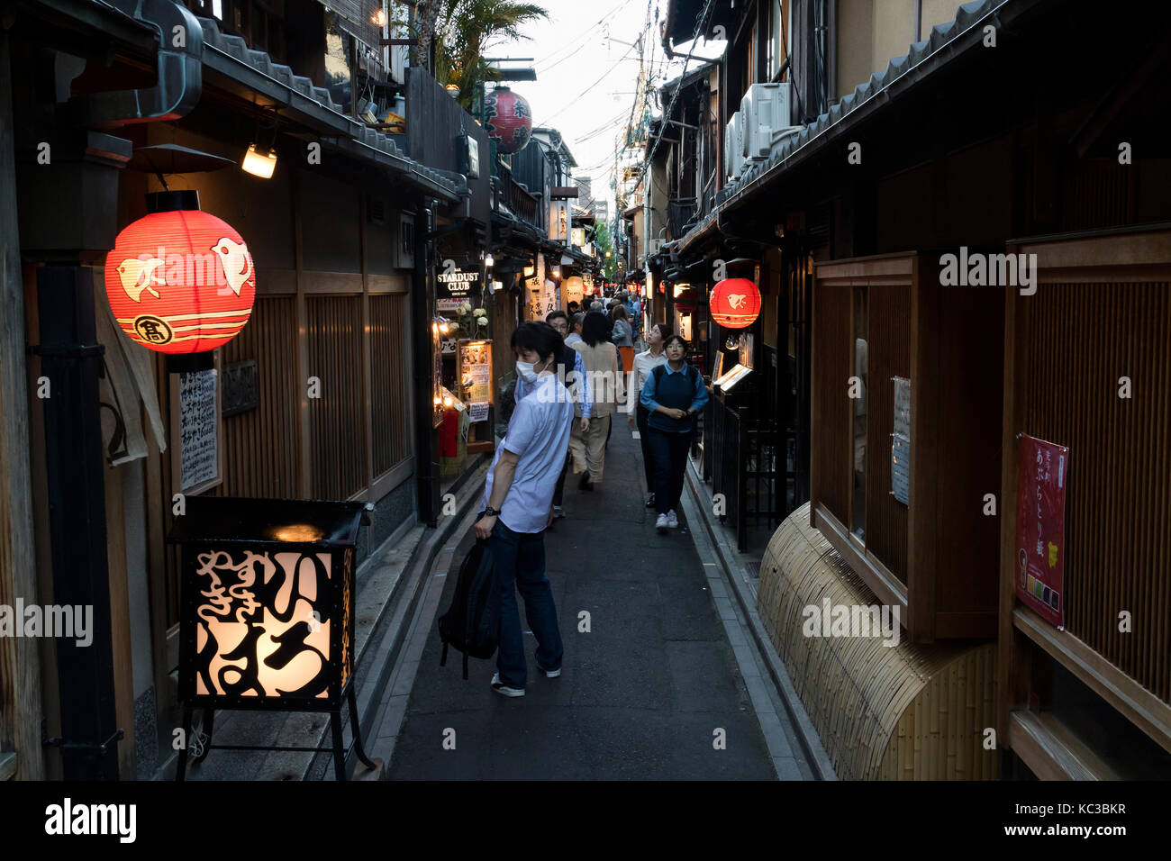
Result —
[[813, 312], [813, 466], [812, 498], [843, 524], [850, 522], [854, 443], [852, 401], [848, 381], [854, 374], [850, 334], [850, 287], [817, 285]]

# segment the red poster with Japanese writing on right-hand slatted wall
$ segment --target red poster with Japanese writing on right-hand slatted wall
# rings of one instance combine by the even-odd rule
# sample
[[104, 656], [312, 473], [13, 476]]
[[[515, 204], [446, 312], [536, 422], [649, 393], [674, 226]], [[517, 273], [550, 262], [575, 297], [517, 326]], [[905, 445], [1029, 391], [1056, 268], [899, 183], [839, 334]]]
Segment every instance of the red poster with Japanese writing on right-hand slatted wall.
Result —
[[1016, 457], [1016, 594], [1064, 628], [1069, 449], [1022, 433]]

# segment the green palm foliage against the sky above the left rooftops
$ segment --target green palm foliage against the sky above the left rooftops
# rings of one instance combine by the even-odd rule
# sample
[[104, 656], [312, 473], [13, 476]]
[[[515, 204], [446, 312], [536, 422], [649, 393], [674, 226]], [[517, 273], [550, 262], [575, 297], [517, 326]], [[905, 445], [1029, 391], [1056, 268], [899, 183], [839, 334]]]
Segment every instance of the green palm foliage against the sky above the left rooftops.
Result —
[[477, 86], [495, 80], [495, 70], [484, 62], [493, 46], [527, 39], [521, 29], [548, 19], [548, 9], [515, 0], [433, 0], [436, 21], [434, 77], [441, 84], [459, 86], [459, 103], [472, 109]]

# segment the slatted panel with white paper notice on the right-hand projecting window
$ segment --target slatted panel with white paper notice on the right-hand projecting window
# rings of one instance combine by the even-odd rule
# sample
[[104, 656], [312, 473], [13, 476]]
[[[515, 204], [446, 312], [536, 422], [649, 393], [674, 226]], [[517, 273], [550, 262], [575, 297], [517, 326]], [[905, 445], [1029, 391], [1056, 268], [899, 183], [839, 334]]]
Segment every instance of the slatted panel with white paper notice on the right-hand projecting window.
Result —
[[911, 376], [911, 286], [871, 286], [867, 305], [867, 549], [905, 583], [908, 508], [890, 492], [890, 378]]

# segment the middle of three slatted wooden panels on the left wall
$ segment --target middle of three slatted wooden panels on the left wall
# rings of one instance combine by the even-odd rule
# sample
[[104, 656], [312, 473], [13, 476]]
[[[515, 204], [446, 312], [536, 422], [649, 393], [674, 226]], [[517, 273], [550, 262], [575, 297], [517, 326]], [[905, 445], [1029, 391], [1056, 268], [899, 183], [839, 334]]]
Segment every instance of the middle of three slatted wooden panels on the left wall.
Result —
[[[308, 296], [310, 492], [348, 499], [367, 486], [361, 296]], [[308, 381], [306, 382], [308, 387]]]

